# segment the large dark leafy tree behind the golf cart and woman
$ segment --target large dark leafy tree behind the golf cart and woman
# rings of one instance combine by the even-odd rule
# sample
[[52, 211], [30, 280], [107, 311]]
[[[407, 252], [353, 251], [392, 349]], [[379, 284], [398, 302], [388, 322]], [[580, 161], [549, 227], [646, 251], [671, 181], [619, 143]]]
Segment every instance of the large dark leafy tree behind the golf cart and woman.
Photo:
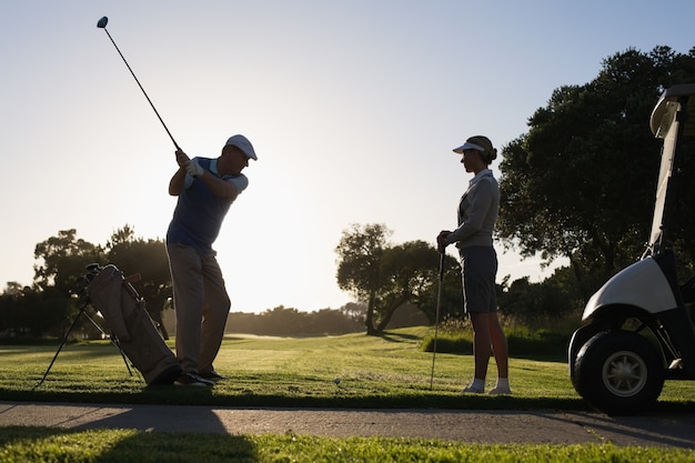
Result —
[[649, 114], [665, 88], [691, 81], [694, 50], [657, 47], [616, 53], [592, 82], [555, 90], [503, 148], [498, 236], [546, 263], [567, 258], [588, 299], [644, 250], [661, 144]]

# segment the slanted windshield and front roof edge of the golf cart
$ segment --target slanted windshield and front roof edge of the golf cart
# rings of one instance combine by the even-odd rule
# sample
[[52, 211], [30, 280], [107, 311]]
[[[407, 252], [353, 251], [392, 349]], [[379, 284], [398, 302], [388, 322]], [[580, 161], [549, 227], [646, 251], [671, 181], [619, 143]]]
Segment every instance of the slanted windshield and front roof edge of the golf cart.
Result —
[[[694, 98], [691, 98], [694, 97]], [[649, 233], [649, 250], [658, 252], [668, 231], [669, 193], [672, 174], [676, 160], [676, 149], [682, 137], [695, 134], [695, 83], [674, 85], [667, 89], [652, 112], [651, 128], [655, 137], [664, 139], [662, 163], [656, 185], [654, 219]], [[688, 118], [687, 114], [693, 114]], [[689, 120], [688, 120], [689, 119]]]

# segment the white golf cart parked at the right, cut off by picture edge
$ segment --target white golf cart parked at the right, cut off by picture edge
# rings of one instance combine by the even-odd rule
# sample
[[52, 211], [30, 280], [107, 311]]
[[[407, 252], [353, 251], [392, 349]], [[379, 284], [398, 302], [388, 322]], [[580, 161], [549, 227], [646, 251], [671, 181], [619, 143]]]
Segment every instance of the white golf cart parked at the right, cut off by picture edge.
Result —
[[608, 414], [646, 410], [665, 380], [695, 380], [695, 331], [685, 305], [695, 301], [695, 276], [678, 284], [669, 235], [677, 193], [672, 173], [693, 155], [683, 152], [683, 141], [695, 137], [695, 83], [662, 94], [651, 129], [664, 142], [647, 249], [590, 299], [568, 348], [574, 389]]

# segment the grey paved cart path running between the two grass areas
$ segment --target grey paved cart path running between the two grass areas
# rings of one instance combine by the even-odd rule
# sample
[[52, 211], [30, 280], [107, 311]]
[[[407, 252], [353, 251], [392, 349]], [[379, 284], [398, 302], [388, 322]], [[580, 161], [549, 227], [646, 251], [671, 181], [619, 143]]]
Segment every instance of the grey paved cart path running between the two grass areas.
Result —
[[[558, 411], [248, 409], [0, 401], [0, 426], [137, 429], [230, 435], [425, 437], [466, 443], [583, 444], [695, 449], [695, 415], [611, 417]], [[1, 430], [0, 430], [1, 432]]]

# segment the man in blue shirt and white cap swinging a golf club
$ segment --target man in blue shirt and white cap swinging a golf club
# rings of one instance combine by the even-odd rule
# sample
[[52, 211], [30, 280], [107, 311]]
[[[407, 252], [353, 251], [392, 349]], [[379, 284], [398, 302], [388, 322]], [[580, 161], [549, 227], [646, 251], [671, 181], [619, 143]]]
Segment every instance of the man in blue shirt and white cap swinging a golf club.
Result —
[[249, 185], [241, 171], [256, 160], [251, 142], [231, 137], [216, 159], [175, 152], [179, 170], [169, 194], [179, 197], [167, 232], [167, 253], [177, 313], [177, 358], [183, 370], [174, 384], [211, 386], [223, 380], [212, 365], [231, 306], [212, 243], [236, 197]]

